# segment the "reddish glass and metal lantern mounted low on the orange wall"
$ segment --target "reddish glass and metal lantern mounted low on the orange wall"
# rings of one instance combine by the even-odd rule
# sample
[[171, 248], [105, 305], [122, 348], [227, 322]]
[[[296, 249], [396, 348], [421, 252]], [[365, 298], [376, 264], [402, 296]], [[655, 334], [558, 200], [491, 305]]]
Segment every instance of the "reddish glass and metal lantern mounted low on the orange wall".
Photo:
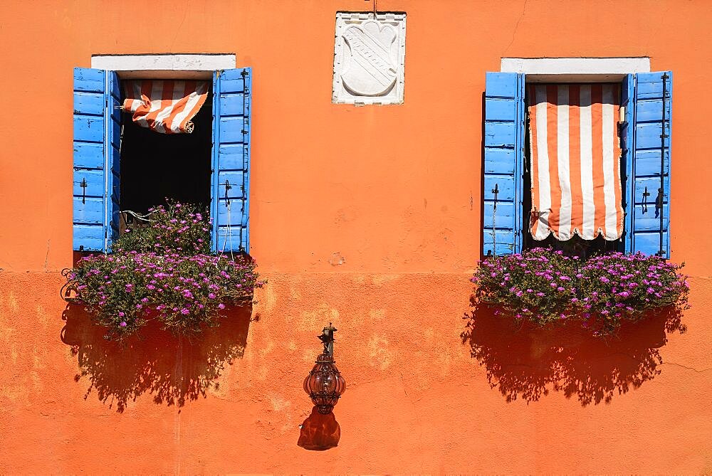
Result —
[[324, 327], [319, 339], [324, 344], [324, 351], [316, 358], [314, 368], [304, 379], [304, 391], [309, 394], [319, 413], [331, 413], [339, 397], [346, 390], [346, 381], [336, 368], [334, 361], [335, 327], [329, 323]]

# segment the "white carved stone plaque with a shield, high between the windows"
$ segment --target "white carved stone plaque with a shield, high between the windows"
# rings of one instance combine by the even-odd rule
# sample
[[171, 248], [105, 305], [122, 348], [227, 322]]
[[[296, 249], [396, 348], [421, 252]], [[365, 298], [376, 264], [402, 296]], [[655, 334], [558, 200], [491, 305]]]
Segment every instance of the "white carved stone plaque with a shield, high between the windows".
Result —
[[403, 102], [405, 14], [338, 12], [332, 100]]

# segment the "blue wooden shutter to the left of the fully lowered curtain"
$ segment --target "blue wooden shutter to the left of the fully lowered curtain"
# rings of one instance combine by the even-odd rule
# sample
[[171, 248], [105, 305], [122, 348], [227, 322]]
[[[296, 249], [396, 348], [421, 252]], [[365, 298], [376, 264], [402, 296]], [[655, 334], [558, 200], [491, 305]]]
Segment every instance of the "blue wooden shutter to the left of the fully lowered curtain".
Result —
[[523, 74], [487, 73], [483, 255], [521, 251], [524, 107]]

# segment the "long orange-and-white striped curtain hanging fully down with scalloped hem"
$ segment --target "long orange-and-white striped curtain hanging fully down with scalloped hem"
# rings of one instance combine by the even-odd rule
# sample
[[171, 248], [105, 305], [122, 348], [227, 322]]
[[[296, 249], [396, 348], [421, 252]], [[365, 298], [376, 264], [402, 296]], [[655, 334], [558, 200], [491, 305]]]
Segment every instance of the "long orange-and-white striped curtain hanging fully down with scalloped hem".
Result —
[[617, 84], [530, 85], [535, 240], [623, 233]]

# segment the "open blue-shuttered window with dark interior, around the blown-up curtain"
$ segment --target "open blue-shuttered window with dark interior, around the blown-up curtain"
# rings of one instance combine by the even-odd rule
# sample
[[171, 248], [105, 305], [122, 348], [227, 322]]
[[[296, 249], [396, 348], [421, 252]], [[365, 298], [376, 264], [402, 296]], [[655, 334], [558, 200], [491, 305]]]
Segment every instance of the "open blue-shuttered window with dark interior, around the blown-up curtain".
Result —
[[121, 211], [164, 198], [209, 204], [214, 251], [249, 252], [251, 69], [212, 73], [193, 134], [122, 117], [116, 71], [75, 68], [73, 248], [109, 252]]

